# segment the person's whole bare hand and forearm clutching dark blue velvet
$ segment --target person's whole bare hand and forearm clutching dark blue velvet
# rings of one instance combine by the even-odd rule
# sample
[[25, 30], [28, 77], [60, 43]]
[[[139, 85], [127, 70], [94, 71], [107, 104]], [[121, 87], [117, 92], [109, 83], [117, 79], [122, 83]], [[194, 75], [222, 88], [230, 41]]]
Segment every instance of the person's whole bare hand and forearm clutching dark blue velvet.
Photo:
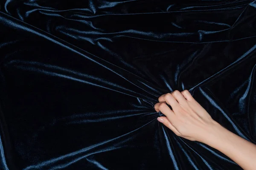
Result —
[[158, 101], [154, 108], [166, 117], [161, 116], [157, 120], [177, 136], [202, 142], [219, 150], [244, 170], [256, 170], [256, 145], [213, 120], [189, 91], [163, 94]]

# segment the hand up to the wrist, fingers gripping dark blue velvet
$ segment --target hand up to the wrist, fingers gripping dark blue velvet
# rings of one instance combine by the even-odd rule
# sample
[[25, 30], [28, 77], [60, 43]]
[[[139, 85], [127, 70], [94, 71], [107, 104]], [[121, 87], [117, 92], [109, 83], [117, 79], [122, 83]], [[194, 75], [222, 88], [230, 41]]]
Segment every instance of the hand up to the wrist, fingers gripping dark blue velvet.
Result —
[[157, 120], [177, 136], [203, 142], [207, 135], [215, 131], [215, 127], [220, 126], [187, 90], [163, 94], [158, 101], [154, 108], [166, 117], [161, 116]]

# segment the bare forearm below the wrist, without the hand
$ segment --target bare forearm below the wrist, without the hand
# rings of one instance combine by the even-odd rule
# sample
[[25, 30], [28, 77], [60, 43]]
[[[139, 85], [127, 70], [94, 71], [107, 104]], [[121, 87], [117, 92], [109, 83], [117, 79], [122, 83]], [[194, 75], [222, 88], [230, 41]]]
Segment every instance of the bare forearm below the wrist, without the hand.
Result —
[[256, 145], [221, 125], [216, 124], [202, 142], [224, 153], [244, 170], [256, 170]]

